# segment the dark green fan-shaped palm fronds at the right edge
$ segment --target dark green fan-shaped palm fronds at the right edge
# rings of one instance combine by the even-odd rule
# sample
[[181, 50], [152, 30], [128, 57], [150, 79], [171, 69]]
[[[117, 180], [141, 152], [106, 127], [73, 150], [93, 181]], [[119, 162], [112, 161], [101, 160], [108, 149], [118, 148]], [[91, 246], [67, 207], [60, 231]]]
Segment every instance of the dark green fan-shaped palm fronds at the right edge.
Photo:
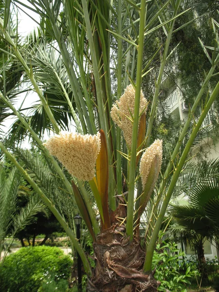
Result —
[[188, 200], [185, 204], [173, 204], [169, 208], [171, 216], [177, 223], [173, 232], [183, 228], [184, 233], [195, 232], [203, 238], [218, 236], [219, 214], [216, 212], [219, 207], [218, 179], [196, 184]]

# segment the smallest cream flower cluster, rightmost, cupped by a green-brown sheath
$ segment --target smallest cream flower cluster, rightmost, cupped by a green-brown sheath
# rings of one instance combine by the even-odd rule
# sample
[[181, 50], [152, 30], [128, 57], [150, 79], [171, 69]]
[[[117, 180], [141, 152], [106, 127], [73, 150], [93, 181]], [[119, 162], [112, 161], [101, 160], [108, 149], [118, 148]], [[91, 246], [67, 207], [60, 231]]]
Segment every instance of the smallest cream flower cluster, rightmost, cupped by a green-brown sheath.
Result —
[[[150, 172], [150, 168], [152, 165], [152, 161], [156, 154], [159, 156], [159, 171], [161, 169], [162, 164], [162, 154], [163, 154], [163, 148], [162, 148], [162, 140], [155, 140], [154, 143], [146, 148], [145, 153], [142, 155], [141, 162], [140, 162], [140, 173], [142, 177], [142, 185], [145, 187], [147, 182], [147, 177]], [[157, 173], [157, 177], [159, 175], [159, 172]]]

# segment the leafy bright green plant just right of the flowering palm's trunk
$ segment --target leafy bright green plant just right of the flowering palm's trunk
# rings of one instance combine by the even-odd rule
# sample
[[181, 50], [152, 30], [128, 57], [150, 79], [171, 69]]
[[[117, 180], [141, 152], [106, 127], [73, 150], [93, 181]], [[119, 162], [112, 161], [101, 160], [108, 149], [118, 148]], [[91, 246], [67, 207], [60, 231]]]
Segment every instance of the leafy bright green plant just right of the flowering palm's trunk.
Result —
[[156, 268], [155, 278], [161, 282], [158, 291], [186, 292], [186, 284], [190, 284], [193, 276], [199, 274], [190, 266], [182, 271], [181, 262], [185, 253], [177, 248], [175, 242], [162, 241], [156, 246], [153, 256], [153, 269]]

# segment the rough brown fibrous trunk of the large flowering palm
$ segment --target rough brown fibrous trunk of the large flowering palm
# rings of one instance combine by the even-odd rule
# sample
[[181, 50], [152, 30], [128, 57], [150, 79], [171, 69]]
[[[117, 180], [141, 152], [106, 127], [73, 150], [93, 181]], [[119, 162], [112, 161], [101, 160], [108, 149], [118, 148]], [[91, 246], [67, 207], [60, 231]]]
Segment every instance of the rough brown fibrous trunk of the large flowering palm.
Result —
[[129, 241], [124, 228], [113, 225], [93, 243], [96, 267], [89, 292], [157, 292], [160, 282], [143, 272], [145, 252], [139, 240]]

